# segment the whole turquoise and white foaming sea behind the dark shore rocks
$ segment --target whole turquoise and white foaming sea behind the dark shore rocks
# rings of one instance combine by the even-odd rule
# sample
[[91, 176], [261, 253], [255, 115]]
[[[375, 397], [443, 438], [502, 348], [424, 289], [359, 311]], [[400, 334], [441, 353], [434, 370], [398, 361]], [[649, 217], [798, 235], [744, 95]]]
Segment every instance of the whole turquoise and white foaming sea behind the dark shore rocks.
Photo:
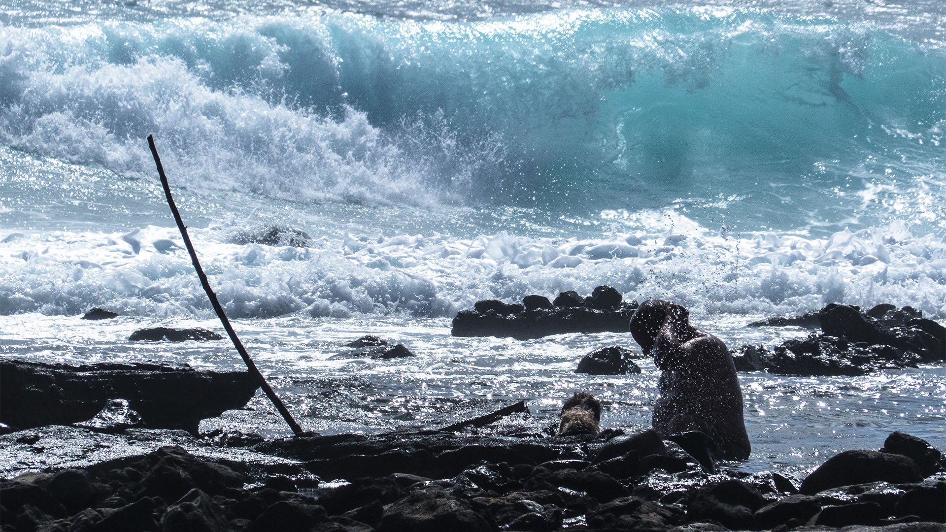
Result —
[[[449, 337], [483, 298], [610, 284], [686, 305], [730, 347], [804, 334], [745, 323], [832, 302], [942, 322], [942, 7], [777, 4], [8, 0], [0, 352], [236, 364], [222, 343], [126, 341], [216, 327], [148, 134], [220, 301], [323, 432], [517, 399], [551, 419], [579, 388], [605, 424], [647, 424], [653, 364], [571, 373], [629, 337]], [[272, 225], [311, 244], [235, 243]], [[94, 306], [123, 317], [79, 321]], [[419, 356], [340, 357], [363, 333]], [[940, 366], [743, 383], [746, 467], [942, 438]], [[237, 422], [282, 430], [266, 419]]]

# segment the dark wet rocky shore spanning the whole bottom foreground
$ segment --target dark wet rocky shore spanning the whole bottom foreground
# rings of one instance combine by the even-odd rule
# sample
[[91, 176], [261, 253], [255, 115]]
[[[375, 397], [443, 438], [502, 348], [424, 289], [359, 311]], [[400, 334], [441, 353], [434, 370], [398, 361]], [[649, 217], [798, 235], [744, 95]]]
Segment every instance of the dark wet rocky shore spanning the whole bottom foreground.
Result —
[[[141, 452], [149, 434], [177, 445]], [[946, 462], [901, 433], [804, 478], [700, 464], [653, 431], [237, 436], [76, 427], [0, 436], [0, 472], [13, 477], [0, 481], [0, 529], [946, 531]], [[110, 446], [113, 457], [96, 461]], [[44, 468], [44, 455], [57, 466]]]

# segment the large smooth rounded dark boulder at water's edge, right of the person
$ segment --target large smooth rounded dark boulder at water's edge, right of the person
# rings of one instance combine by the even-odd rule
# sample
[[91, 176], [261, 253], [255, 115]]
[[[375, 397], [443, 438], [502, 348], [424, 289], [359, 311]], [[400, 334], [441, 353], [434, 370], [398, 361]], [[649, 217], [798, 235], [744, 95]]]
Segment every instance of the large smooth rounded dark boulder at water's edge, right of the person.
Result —
[[854, 450], [835, 454], [801, 483], [801, 492], [813, 495], [825, 489], [869, 482], [920, 482], [916, 462], [901, 454]]

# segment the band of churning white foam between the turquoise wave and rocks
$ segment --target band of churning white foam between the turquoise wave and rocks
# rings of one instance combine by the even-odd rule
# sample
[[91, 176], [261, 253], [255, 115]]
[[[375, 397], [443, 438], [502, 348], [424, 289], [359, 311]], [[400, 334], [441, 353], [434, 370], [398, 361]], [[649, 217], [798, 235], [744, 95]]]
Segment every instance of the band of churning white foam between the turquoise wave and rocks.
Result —
[[[654, 213], [655, 221], [670, 213]], [[479, 299], [590, 293], [674, 299], [698, 313], [797, 314], [828, 303], [909, 305], [946, 317], [946, 243], [905, 222], [828, 239], [733, 236], [684, 217], [651, 231], [585, 240], [500, 232], [323, 237], [313, 247], [224, 243], [198, 230], [204, 268], [234, 317], [293, 312], [451, 316]], [[93, 306], [148, 316], [206, 317], [180, 238], [149, 226], [124, 234], [10, 233], [0, 243], [0, 313], [76, 314]], [[635, 242], [631, 245], [627, 242]]]

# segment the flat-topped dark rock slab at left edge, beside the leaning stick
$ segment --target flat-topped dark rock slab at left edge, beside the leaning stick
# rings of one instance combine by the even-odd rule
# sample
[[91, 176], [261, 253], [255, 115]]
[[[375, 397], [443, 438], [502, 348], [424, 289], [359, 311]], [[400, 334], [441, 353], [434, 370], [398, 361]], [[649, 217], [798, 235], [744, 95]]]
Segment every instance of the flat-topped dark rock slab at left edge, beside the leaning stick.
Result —
[[197, 371], [187, 365], [3, 360], [0, 420], [19, 428], [78, 423], [120, 397], [150, 428], [194, 432], [201, 419], [244, 406], [257, 387], [248, 372]]

